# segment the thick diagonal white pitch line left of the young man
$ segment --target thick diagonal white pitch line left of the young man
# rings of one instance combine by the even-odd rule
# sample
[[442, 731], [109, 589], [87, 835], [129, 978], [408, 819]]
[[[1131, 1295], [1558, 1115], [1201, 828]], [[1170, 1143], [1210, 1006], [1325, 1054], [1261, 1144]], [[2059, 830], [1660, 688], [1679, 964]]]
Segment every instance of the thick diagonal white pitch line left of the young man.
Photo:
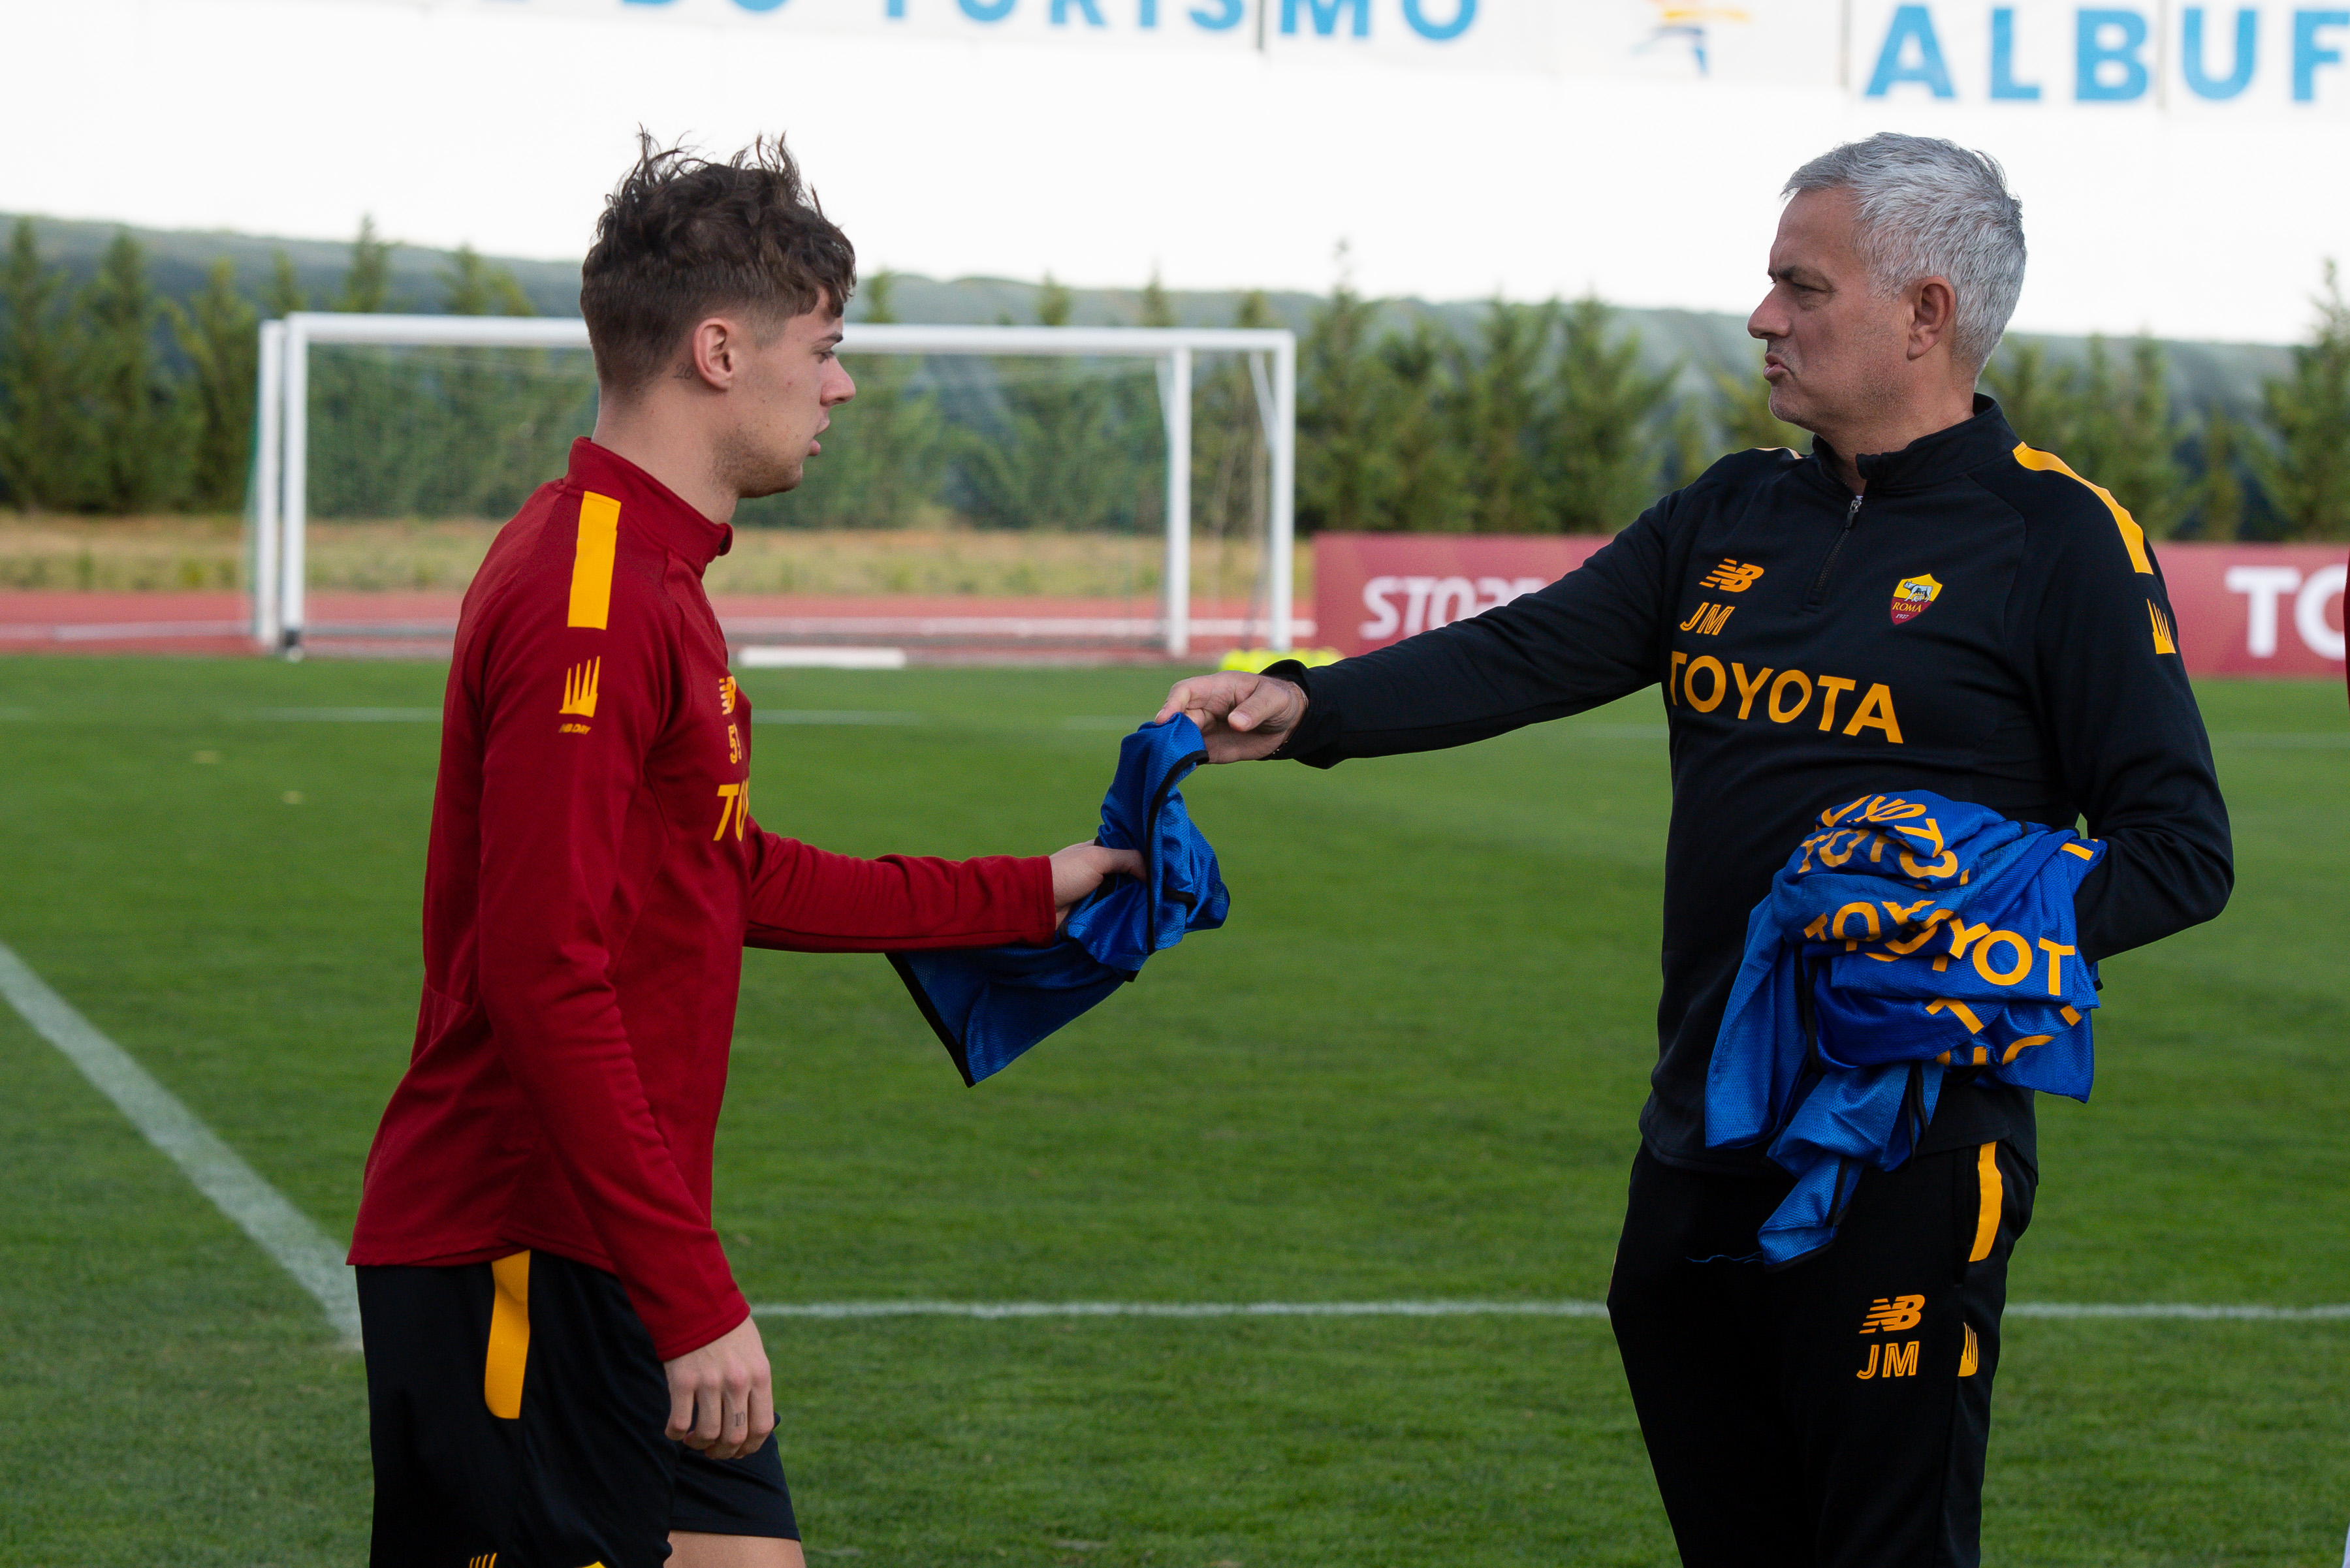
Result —
[[327, 1241], [310, 1218], [294, 1208], [244, 1159], [197, 1121], [179, 1095], [157, 1084], [96, 1025], [82, 1018], [0, 943], [0, 994], [7, 997], [33, 1030], [80, 1067], [89, 1084], [115, 1103], [132, 1126], [172, 1157], [195, 1190], [235, 1220], [237, 1229], [261, 1244], [287, 1274], [327, 1312], [327, 1321], [350, 1345], [360, 1342], [360, 1291], [343, 1248]]

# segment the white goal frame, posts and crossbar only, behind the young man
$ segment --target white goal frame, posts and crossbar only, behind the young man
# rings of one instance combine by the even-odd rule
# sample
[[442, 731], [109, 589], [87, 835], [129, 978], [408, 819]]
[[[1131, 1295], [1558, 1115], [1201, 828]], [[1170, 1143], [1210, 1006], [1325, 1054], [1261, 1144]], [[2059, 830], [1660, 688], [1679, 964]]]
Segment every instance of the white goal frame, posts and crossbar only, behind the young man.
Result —
[[[254, 642], [301, 656], [308, 607], [310, 346], [588, 348], [578, 317], [345, 315], [298, 310], [261, 324], [258, 442], [254, 465]], [[1264, 543], [1264, 644], [1292, 646], [1290, 545], [1297, 531], [1297, 336], [1281, 327], [919, 327], [851, 322], [844, 355], [1081, 355], [1144, 357], [1159, 367], [1168, 442], [1168, 536], [1159, 632], [1170, 656], [1191, 651], [1191, 357], [1246, 355], [1271, 458]], [[552, 477], [552, 475], [550, 475]], [[820, 482], [820, 480], [818, 480]]]

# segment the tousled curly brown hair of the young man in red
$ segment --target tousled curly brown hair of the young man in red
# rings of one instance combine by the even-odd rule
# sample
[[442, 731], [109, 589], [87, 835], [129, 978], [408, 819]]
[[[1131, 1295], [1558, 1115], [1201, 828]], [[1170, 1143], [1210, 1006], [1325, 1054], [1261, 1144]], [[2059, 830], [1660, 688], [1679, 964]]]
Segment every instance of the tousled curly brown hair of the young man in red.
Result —
[[846, 310], [858, 287], [848, 244], [783, 136], [759, 136], [726, 162], [637, 132], [637, 167], [604, 202], [580, 266], [580, 315], [609, 397], [644, 390], [677, 364], [710, 310], [750, 308], [773, 322]]

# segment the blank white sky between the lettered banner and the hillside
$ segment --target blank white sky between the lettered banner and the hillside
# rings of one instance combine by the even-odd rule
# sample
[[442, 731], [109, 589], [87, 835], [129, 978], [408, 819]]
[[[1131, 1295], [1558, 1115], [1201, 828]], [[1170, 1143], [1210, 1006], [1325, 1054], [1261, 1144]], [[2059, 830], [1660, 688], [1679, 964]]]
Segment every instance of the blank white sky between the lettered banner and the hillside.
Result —
[[[1175, 0], [1168, 0], [1175, 5]], [[1429, 0], [1429, 9], [1438, 9]], [[569, 259], [642, 122], [790, 132], [867, 270], [1748, 310], [1774, 188], [1875, 129], [2009, 167], [2016, 327], [2289, 341], [2350, 120], [1861, 101], [1356, 59], [381, 0], [0, 0], [0, 209]], [[1920, 96], [1920, 94], [1913, 94]], [[2054, 94], [2052, 94], [2054, 99]]]

